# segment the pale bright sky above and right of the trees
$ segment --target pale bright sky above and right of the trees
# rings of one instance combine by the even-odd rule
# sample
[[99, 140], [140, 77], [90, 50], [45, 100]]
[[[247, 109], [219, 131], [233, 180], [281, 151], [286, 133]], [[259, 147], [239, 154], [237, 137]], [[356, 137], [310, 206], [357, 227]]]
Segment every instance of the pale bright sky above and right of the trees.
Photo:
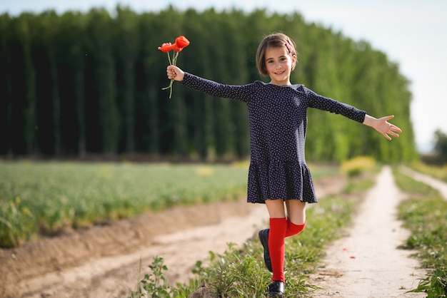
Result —
[[433, 148], [437, 129], [447, 133], [447, 96], [443, 92], [447, 85], [446, 0], [0, 0], [0, 14], [16, 16], [23, 11], [39, 13], [46, 9], [63, 13], [92, 7], [113, 11], [117, 4], [138, 12], [161, 11], [170, 4], [198, 11], [211, 7], [217, 11], [266, 9], [281, 14], [297, 11], [308, 22], [340, 31], [355, 41], [368, 41], [399, 65], [403, 76], [411, 81], [411, 121], [420, 152]]

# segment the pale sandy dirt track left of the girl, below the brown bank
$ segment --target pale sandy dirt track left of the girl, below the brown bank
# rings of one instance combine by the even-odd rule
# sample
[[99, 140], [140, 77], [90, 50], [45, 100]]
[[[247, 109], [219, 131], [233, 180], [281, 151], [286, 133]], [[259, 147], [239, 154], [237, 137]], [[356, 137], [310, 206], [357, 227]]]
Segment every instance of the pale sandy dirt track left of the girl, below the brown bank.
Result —
[[[27, 290], [22, 297], [37, 298], [42, 293], [50, 297], [126, 297], [130, 289], [136, 289], [139, 278], [148, 272], [146, 268], [154, 256], [164, 258], [169, 268], [165, 276], [171, 284], [187, 282], [196, 261], [208, 257], [210, 250], [224, 252], [226, 242], [242, 244], [251, 237], [254, 226], [266, 218], [263, 213], [264, 208], [256, 205], [246, 217], [228, 217], [215, 224], [157, 235], [151, 245], [134, 252], [99, 257], [63, 272], [28, 279], [20, 284]], [[233, 232], [236, 226], [238, 233]]]

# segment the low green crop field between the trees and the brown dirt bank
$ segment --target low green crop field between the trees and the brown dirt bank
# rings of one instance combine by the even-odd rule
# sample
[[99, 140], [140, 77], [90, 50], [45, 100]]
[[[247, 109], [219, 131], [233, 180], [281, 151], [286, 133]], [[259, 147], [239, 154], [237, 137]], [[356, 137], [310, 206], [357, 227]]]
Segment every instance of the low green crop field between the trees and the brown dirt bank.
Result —
[[1, 162], [0, 247], [175, 205], [236, 200], [246, 195], [247, 172], [248, 163]]

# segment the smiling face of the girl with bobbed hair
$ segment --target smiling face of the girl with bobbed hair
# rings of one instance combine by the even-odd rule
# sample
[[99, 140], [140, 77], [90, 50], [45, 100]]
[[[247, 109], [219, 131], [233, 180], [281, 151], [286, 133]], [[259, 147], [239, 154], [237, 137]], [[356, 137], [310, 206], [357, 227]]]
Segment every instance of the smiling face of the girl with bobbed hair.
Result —
[[290, 73], [295, 68], [296, 57], [288, 53], [286, 46], [269, 47], [265, 54], [266, 68], [273, 85], [291, 85]]

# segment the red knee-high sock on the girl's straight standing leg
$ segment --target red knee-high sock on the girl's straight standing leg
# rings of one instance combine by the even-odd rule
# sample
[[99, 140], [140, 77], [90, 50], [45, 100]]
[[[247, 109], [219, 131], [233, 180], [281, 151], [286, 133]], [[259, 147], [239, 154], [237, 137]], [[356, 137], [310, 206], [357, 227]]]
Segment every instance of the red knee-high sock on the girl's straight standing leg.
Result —
[[271, 218], [270, 232], [268, 232], [268, 251], [270, 252], [273, 282], [284, 278], [284, 235], [286, 235], [286, 218]]

